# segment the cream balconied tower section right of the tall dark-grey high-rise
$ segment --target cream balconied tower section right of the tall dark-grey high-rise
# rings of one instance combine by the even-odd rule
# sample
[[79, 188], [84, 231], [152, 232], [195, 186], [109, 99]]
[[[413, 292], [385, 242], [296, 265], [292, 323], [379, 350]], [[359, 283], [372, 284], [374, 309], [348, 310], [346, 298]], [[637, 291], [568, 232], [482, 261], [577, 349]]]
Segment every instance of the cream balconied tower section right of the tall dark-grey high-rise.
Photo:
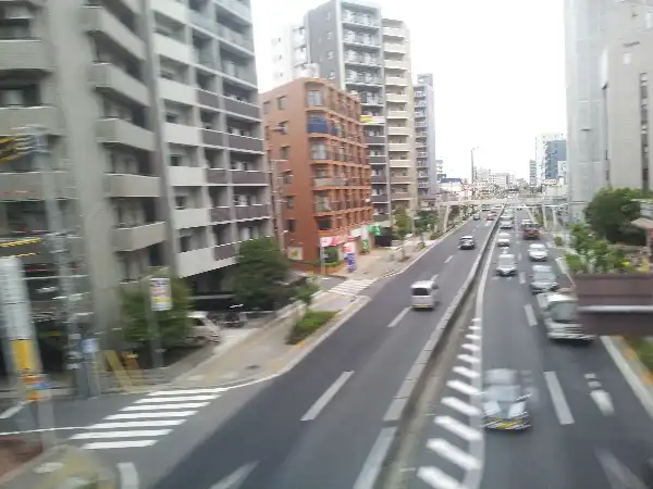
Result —
[[393, 208], [417, 209], [415, 108], [410, 72], [410, 37], [402, 21], [383, 18], [385, 116]]

